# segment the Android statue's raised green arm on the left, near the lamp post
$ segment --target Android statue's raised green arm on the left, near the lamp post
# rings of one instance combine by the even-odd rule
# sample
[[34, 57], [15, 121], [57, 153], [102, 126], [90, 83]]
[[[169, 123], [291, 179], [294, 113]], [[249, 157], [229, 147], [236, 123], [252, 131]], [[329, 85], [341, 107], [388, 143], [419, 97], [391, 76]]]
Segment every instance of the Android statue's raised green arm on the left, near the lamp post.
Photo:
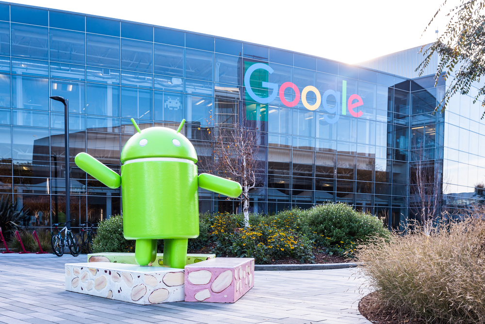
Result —
[[121, 177], [112, 169], [97, 161], [87, 153], [79, 153], [74, 159], [83, 171], [102, 182], [107, 187], [116, 189], [121, 185]]

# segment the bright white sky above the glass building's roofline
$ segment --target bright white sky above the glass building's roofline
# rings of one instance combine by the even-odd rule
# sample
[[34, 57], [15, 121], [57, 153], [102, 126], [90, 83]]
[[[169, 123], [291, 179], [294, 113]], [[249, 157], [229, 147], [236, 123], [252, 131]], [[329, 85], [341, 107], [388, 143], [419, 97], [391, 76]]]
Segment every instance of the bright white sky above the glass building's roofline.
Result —
[[436, 40], [449, 0], [16, 0], [15, 3], [143, 22], [354, 64]]

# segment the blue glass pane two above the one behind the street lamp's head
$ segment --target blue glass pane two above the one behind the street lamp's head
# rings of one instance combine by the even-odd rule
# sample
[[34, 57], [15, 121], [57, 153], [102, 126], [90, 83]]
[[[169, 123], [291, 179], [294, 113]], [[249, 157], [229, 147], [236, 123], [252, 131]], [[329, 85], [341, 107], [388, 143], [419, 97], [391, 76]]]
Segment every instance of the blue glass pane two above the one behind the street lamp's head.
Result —
[[50, 60], [84, 64], [84, 33], [51, 29]]

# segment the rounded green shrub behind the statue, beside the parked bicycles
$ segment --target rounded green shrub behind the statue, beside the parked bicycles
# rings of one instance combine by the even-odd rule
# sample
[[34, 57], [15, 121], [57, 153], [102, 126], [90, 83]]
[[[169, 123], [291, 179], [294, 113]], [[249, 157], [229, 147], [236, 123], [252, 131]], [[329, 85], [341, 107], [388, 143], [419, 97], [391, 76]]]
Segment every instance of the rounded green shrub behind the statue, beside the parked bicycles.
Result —
[[93, 252], [135, 252], [135, 241], [123, 236], [123, 217], [114, 215], [98, 223]]

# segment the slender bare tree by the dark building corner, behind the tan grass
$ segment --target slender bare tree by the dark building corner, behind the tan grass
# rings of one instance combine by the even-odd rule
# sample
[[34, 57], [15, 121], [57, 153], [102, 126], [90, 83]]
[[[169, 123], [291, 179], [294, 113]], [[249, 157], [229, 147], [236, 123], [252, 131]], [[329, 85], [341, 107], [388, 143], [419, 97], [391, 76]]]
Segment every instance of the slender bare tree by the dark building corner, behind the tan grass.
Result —
[[433, 222], [441, 215], [443, 204], [443, 175], [429, 159], [427, 150], [418, 145], [411, 152], [409, 206], [416, 214], [424, 231], [429, 233]]

